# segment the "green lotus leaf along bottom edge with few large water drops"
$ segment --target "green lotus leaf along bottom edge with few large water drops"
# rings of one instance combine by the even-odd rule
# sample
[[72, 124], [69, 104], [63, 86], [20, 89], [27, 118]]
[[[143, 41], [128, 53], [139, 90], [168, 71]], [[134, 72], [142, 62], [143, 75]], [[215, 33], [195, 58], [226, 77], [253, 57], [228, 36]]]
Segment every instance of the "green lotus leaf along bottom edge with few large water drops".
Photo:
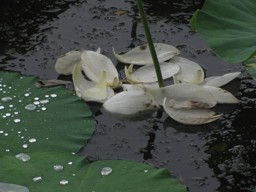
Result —
[[[86, 157], [60, 152], [28, 153], [30, 161], [22, 162], [14, 155], [0, 157], [1, 182], [27, 187], [30, 192], [41, 191], [187, 191], [167, 169], [122, 160], [89, 162]], [[54, 165], [62, 165], [55, 171]], [[110, 167], [109, 175], [102, 175]], [[33, 178], [42, 180], [34, 182]], [[67, 185], [61, 185], [67, 180]]]

